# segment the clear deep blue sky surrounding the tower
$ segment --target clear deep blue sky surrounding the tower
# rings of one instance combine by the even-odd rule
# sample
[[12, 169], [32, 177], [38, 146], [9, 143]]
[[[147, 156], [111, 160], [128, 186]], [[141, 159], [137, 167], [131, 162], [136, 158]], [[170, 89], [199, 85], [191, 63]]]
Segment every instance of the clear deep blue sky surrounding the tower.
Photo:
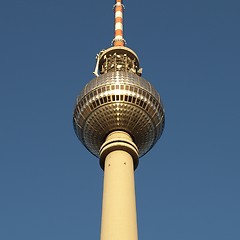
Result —
[[[113, 0], [0, 2], [0, 239], [99, 239], [103, 171], [76, 97]], [[127, 46], [166, 124], [135, 171], [139, 240], [240, 239], [240, 2], [124, 1]]]

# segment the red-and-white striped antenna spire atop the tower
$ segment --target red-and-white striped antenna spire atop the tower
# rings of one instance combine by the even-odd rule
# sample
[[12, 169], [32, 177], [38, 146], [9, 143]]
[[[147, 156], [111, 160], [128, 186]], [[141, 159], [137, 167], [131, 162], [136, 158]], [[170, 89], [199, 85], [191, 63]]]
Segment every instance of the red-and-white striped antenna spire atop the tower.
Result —
[[115, 10], [115, 37], [113, 39], [114, 46], [124, 46], [126, 41], [123, 38], [123, 10], [122, 0], [116, 0], [113, 6]]

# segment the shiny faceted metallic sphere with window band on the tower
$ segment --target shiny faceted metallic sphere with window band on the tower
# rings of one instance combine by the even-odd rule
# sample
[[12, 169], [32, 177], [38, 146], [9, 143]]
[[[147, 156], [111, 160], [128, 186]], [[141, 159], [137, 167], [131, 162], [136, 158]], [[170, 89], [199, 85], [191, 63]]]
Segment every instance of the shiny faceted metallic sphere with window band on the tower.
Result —
[[126, 131], [138, 147], [139, 157], [160, 138], [164, 108], [158, 92], [135, 73], [109, 71], [91, 80], [80, 93], [74, 110], [74, 130], [95, 156], [107, 135]]

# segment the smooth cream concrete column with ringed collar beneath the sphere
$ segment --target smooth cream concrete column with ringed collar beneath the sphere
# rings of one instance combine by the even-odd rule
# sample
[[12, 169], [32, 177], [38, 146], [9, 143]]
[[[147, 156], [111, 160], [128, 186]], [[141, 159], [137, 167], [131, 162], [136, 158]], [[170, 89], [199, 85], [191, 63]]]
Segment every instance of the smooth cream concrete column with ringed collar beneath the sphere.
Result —
[[100, 149], [104, 164], [101, 240], [137, 240], [134, 168], [138, 149], [123, 131], [108, 135]]

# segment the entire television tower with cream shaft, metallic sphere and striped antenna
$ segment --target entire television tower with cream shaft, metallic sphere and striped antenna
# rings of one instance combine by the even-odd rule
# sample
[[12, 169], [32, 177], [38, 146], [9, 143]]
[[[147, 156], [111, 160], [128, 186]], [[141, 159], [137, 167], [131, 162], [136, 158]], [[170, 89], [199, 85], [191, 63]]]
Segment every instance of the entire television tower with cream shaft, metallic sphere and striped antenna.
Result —
[[160, 138], [160, 95], [141, 77], [136, 53], [125, 46], [123, 9], [116, 0], [113, 46], [97, 55], [95, 78], [77, 98], [73, 125], [104, 170], [101, 240], [137, 240], [134, 170]]

